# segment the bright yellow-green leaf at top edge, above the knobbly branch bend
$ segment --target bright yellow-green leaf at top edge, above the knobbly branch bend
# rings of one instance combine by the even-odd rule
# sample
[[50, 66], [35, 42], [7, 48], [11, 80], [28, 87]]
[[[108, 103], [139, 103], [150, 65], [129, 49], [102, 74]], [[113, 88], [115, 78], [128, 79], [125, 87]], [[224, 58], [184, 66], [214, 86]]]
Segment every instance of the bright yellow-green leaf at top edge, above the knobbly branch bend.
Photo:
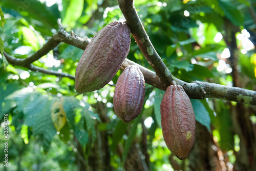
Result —
[[65, 18], [62, 21], [63, 26], [73, 28], [77, 19], [81, 16], [84, 0], [71, 0], [67, 9]]

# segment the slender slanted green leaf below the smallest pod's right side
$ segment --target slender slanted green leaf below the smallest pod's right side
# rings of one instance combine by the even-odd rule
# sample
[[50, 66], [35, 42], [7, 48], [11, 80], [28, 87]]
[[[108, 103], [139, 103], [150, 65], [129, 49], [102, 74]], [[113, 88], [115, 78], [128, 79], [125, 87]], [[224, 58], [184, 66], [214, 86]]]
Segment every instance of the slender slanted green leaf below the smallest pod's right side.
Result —
[[132, 128], [129, 132], [129, 136], [128, 136], [128, 139], [126, 140], [125, 142], [125, 146], [124, 146], [124, 152], [123, 152], [123, 155], [122, 155], [122, 159], [123, 161], [125, 161], [126, 157], [127, 157], [127, 154], [129, 153], [130, 151], [130, 147], [133, 143], [133, 138], [134, 136], [136, 135], [136, 131], [137, 131], [137, 127], [138, 127], [138, 124], [140, 123], [140, 120], [141, 120], [141, 114], [134, 120], [133, 122], [133, 125], [132, 125]]

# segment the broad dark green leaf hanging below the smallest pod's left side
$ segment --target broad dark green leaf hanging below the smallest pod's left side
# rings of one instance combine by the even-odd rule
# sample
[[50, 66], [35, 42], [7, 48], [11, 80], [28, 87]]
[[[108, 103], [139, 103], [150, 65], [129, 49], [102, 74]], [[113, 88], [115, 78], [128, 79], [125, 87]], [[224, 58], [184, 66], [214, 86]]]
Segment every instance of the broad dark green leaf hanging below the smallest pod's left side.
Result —
[[118, 142], [120, 142], [123, 135], [125, 134], [127, 126], [128, 126], [128, 124], [124, 124], [122, 120], [118, 121], [118, 123], [115, 127], [115, 131], [113, 133], [113, 138], [112, 138], [113, 142], [110, 147], [110, 149], [113, 153], [115, 153]]

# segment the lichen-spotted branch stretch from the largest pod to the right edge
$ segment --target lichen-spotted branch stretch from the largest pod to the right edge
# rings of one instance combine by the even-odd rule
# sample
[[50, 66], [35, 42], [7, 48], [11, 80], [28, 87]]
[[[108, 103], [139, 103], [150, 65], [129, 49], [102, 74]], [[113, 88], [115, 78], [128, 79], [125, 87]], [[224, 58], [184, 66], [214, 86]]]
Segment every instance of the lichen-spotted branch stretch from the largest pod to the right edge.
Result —
[[[137, 65], [142, 71], [145, 82], [153, 85], [161, 90], [166, 90], [163, 82], [159, 79], [155, 72], [126, 59], [121, 66], [123, 70], [128, 65]], [[220, 84], [195, 81], [186, 83], [176, 79], [177, 84], [181, 85], [190, 99], [215, 98], [227, 101], [241, 102], [250, 105], [256, 105], [256, 91], [246, 90], [238, 87], [229, 87]]]

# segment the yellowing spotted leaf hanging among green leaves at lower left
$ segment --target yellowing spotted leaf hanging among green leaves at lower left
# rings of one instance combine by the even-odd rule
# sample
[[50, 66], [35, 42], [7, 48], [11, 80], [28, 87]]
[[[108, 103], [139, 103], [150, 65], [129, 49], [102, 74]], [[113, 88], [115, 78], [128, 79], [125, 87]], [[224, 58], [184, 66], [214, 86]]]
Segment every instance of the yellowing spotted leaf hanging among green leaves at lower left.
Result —
[[67, 122], [67, 115], [63, 109], [63, 99], [56, 101], [51, 108], [51, 117], [57, 131], [61, 130]]

